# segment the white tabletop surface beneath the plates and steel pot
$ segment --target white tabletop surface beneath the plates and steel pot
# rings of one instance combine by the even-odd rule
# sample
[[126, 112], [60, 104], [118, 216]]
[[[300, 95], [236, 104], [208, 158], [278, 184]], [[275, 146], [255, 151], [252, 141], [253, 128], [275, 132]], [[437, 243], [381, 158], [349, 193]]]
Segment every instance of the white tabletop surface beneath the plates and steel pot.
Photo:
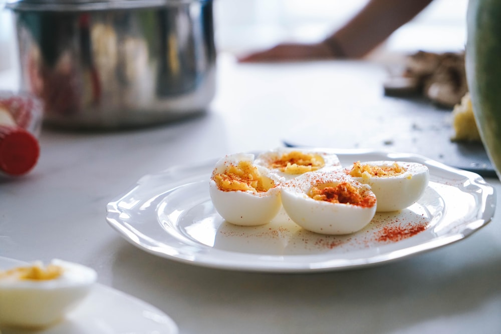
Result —
[[[288, 131], [311, 115], [332, 122], [335, 131], [335, 115], [342, 113], [331, 107], [335, 93], [358, 89], [351, 94], [377, 108], [384, 77], [367, 63], [240, 65], [228, 55], [220, 55], [217, 71], [216, 97], [202, 117], [125, 132], [43, 129], [36, 168], [0, 182], [0, 256], [88, 265], [100, 283], [163, 310], [182, 334], [501, 332], [499, 212], [443, 248], [314, 274], [198, 267], [122, 239], [106, 223], [106, 204], [143, 175], [282, 146]], [[375, 79], [356, 75], [364, 71]], [[0, 82], [8, 88], [16, 74], [0, 72]], [[501, 191], [497, 179], [486, 181]]]

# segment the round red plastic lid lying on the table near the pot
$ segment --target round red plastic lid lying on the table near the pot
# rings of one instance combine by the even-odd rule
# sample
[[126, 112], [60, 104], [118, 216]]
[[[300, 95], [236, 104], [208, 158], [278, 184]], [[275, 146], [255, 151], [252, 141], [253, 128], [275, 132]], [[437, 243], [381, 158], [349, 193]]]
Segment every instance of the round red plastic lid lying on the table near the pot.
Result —
[[37, 164], [40, 145], [23, 128], [0, 126], [0, 170], [9, 175], [23, 175]]

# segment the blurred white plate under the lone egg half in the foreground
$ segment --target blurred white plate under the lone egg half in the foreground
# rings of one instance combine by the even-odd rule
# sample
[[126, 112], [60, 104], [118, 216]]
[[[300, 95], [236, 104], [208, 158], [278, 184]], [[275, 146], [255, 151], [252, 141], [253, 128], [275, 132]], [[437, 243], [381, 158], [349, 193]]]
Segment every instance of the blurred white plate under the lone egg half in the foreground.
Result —
[[[26, 264], [0, 256], [0, 269]], [[41, 306], [43, 307], [43, 305]], [[177, 334], [174, 321], [159, 309], [118, 290], [95, 284], [66, 318], [43, 330], [2, 328], [2, 334]]]

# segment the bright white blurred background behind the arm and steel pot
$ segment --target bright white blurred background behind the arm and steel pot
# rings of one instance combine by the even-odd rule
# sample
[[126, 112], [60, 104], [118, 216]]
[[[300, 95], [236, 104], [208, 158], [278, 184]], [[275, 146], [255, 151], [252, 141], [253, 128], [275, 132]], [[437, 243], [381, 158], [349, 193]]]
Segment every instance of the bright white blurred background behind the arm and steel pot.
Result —
[[[11, 13], [0, 0], [0, 70], [16, 65]], [[215, 40], [219, 52], [235, 55], [283, 41], [313, 42], [346, 22], [367, 0], [215, 0]], [[467, 0], [435, 0], [396, 31], [372, 56], [459, 51], [466, 39]]]

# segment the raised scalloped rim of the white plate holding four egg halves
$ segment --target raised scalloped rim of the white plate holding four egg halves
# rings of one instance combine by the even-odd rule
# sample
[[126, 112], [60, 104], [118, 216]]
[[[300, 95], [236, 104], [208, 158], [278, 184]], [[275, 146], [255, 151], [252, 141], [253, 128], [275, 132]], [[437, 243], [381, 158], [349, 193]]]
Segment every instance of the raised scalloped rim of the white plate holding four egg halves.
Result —
[[[137, 233], [133, 230], [133, 227], [129, 224], [124, 224], [120, 221], [119, 215], [120, 210], [118, 208], [118, 203], [124, 199], [128, 194], [136, 191], [141, 188], [144, 183], [148, 182], [151, 178], [159, 177], [162, 175], [166, 175], [167, 173], [174, 173], [179, 170], [185, 170], [187, 168], [202, 168], [204, 166], [210, 166], [215, 164], [215, 162], [219, 158], [213, 158], [209, 160], [205, 160], [199, 162], [194, 165], [175, 165], [170, 168], [164, 169], [157, 173], [147, 174], [141, 177], [135, 186], [130, 188], [128, 191], [123, 194], [116, 196], [112, 201], [110, 201], [107, 206], [107, 215], [106, 221], [107, 223], [116, 230], [120, 236], [122, 236], [129, 243], [134, 246], [142, 249], [148, 253], [171, 259], [177, 262], [197, 265], [202, 267], [216, 268], [216, 269], [227, 269], [227, 270], [236, 270], [236, 271], [253, 271], [253, 272], [275, 272], [275, 273], [304, 273], [304, 272], [321, 272], [321, 271], [335, 271], [335, 270], [345, 270], [352, 268], [360, 268], [373, 266], [383, 263], [392, 262], [395, 260], [403, 259], [409, 256], [417, 255], [423, 252], [427, 252], [433, 249], [437, 249], [443, 247], [445, 245], [449, 245], [455, 243], [459, 240], [462, 240], [474, 232], [478, 231], [480, 228], [487, 225], [494, 214], [495, 211], [495, 201], [496, 201], [496, 192], [493, 186], [488, 184], [479, 174], [466, 171], [462, 169], [458, 169], [455, 167], [447, 166], [441, 162], [429, 159], [422, 155], [413, 154], [413, 153], [398, 153], [392, 151], [383, 151], [383, 150], [370, 150], [370, 149], [332, 149], [332, 148], [309, 148], [310, 150], [316, 151], [324, 151], [328, 153], [333, 153], [340, 155], [340, 160], [345, 159], [347, 156], [366, 156], [366, 155], [375, 155], [378, 156], [377, 159], [370, 160], [400, 160], [400, 161], [414, 161], [427, 165], [430, 168], [430, 180], [433, 175], [433, 170], [439, 170], [445, 172], [448, 175], [456, 175], [458, 177], [463, 178], [465, 181], [469, 181], [471, 184], [475, 185], [477, 188], [481, 189], [481, 208], [478, 208], [475, 212], [477, 213], [477, 219], [466, 221], [462, 223], [461, 229], [457, 230], [455, 233], [449, 233], [445, 235], [441, 235], [436, 238], [432, 238], [427, 240], [424, 243], [419, 243], [417, 245], [413, 245], [412, 247], [407, 248], [398, 248], [398, 255], [389, 256], [386, 253], [365, 257], [360, 259], [350, 259], [348, 263], [339, 264], [333, 263], [333, 260], [324, 260], [320, 262], [310, 262], [309, 265], [305, 265], [305, 262], [300, 262], [299, 265], [295, 265], [296, 262], [291, 261], [273, 261], [269, 262], [269, 259], [272, 257], [278, 258], [287, 258], [287, 259], [295, 259], [295, 258], [311, 258], [315, 255], [263, 255], [263, 254], [249, 254], [249, 253], [239, 253], [229, 250], [217, 250], [214, 248], [210, 248], [208, 252], [203, 254], [198, 254], [199, 256], [188, 256], [183, 257], [179, 255], [167, 254], [165, 252], [161, 252], [157, 249], [157, 247], [148, 247], [146, 244], [141, 243], [141, 235], [142, 233]], [[260, 151], [250, 152], [253, 154], [259, 154]], [[365, 160], [368, 161], [369, 159]], [[165, 186], [165, 185], [164, 185]], [[400, 241], [402, 243], [405, 240]], [[391, 245], [394, 245], [393, 243]], [[383, 245], [382, 247], [387, 246]], [[403, 251], [405, 250], [405, 251]], [[214, 254], [223, 252], [231, 254], [232, 257], [236, 258], [232, 261], [221, 260], [220, 258], [214, 258]], [[200, 256], [203, 255], [203, 256]], [[317, 254], [317, 256], [319, 256]], [[246, 261], [250, 259], [255, 259], [255, 261]], [[259, 263], [259, 259], [263, 257], [266, 258], [265, 261]], [[259, 264], [256, 264], [256, 260], [258, 260]], [[334, 262], [339, 262], [339, 259], [334, 260]]]

